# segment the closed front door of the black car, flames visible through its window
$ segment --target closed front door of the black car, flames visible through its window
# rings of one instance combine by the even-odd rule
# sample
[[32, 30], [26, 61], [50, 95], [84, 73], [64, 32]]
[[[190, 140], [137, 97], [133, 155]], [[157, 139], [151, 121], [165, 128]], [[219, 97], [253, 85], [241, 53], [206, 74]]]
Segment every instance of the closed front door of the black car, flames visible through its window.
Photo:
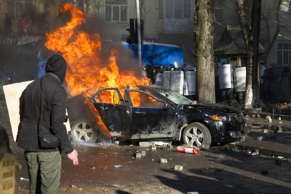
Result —
[[125, 89], [133, 123], [132, 139], [172, 138], [178, 130], [177, 111], [145, 91]]

